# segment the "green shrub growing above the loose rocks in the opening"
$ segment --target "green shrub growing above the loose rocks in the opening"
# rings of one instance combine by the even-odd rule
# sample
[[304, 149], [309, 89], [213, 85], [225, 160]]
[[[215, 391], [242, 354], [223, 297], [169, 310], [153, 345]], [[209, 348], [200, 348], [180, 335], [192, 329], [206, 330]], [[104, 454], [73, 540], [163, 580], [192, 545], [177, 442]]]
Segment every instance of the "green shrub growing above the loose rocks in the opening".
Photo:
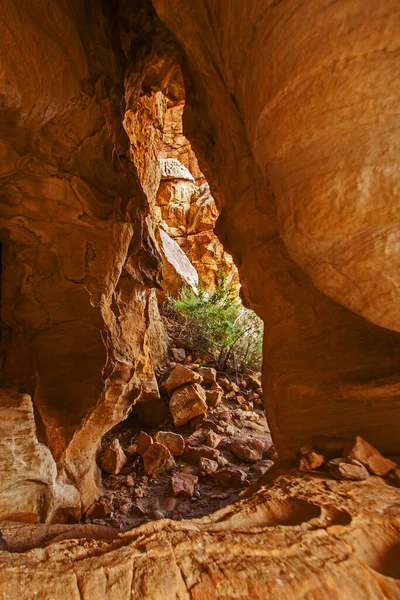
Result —
[[211, 354], [219, 369], [261, 370], [263, 323], [224, 276], [211, 293], [201, 284], [198, 294], [183, 287], [168, 297], [164, 313], [179, 324], [179, 337]]

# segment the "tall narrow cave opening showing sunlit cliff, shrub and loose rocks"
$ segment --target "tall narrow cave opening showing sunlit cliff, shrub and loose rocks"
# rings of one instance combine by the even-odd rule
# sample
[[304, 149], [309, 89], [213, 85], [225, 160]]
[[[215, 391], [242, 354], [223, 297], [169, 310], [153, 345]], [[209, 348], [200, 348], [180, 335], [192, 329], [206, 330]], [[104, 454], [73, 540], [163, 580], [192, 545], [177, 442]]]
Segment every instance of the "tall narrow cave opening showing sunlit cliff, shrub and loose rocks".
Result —
[[124, 531], [213, 513], [276, 459], [261, 387], [262, 321], [242, 304], [237, 268], [215, 234], [219, 210], [183, 111], [183, 100], [157, 91], [124, 121], [142, 185], [158, 171], [149, 215], [162, 257], [155, 296], [165, 338], [152, 393], [103, 436], [103, 494], [83, 517]]

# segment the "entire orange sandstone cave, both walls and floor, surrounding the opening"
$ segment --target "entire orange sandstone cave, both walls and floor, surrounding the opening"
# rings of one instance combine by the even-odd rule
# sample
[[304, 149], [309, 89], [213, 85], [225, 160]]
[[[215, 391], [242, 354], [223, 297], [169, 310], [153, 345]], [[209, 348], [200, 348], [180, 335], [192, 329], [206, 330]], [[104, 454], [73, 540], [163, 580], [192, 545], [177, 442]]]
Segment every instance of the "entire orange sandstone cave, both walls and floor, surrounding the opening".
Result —
[[[150, 417], [160, 406], [160, 123], [167, 115], [173, 146], [184, 103], [201, 171], [181, 132], [168, 156], [196, 184], [206, 175], [219, 238], [265, 321], [279, 451], [321, 433], [400, 450], [397, 2], [153, 5], [161, 21], [146, 2], [2, 3], [0, 385], [18, 394], [7, 396], [2, 444], [23, 457], [17, 469], [1, 446], [3, 516], [61, 521], [86, 509], [101, 436], [133, 405]], [[210, 222], [201, 204], [193, 226], [203, 209]], [[192, 231], [201, 256], [208, 231]], [[193, 461], [217, 459], [210, 450], [191, 449]], [[243, 472], [223, 476], [240, 484]], [[400, 595], [397, 489], [297, 473], [270, 485], [201, 521], [160, 521], [110, 544], [1, 552], [0, 592]]]

